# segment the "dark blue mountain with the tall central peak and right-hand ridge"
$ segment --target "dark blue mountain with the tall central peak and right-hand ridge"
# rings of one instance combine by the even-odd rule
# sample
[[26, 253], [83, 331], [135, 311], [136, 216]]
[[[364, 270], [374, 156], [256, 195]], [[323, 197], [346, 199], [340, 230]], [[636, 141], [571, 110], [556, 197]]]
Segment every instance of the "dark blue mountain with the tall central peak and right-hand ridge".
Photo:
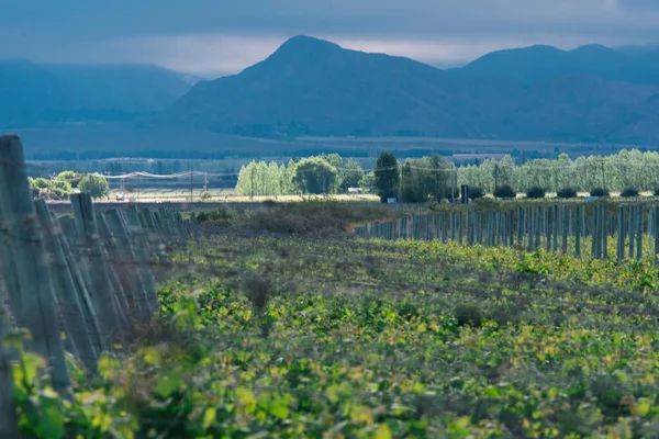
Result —
[[[611, 66], [596, 74], [585, 68], [617, 58], [612, 52], [535, 46], [444, 71], [298, 36], [239, 75], [198, 83], [154, 123], [266, 137], [659, 143], [659, 86], [612, 80], [606, 76], [617, 74]], [[572, 58], [582, 60], [568, 69]]]

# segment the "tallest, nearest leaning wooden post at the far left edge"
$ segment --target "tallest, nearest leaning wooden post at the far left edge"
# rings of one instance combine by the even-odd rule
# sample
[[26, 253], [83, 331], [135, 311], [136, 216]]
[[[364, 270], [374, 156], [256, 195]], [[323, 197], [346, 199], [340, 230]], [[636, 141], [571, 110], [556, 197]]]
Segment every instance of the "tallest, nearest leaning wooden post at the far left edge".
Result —
[[20, 301], [12, 302], [13, 313], [32, 335], [29, 348], [48, 361], [53, 389], [68, 394], [70, 379], [55, 312], [51, 270], [44, 258], [43, 234], [37, 225], [23, 146], [18, 136], [0, 137], [0, 217], [8, 226], [8, 244], [16, 267], [19, 291], [11, 296]]

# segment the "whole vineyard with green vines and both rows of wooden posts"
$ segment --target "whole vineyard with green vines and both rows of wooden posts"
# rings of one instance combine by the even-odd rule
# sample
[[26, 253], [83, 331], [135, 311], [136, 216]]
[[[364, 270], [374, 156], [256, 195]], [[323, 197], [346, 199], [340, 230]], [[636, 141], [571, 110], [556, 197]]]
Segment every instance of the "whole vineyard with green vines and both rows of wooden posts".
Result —
[[1, 438], [659, 436], [651, 202], [56, 216], [22, 164]]

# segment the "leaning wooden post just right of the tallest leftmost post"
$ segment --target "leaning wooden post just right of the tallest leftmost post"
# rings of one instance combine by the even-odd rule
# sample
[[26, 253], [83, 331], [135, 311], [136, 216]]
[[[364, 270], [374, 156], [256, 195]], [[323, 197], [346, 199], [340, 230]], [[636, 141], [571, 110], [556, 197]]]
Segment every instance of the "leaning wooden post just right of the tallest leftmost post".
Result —
[[59, 315], [67, 331], [67, 340], [70, 339], [76, 349], [77, 357], [82, 360], [87, 370], [94, 372], [100, 351], [98, 351], [97, 345], [92, 339], [98, 338], [98, 328], [93, 326], [88, 327], [80, 304], [80, 294], [64, 255], [59, 227], [53, 221], [45, 200], [36, 200], [34, 206], [38, 222], [45, 232], [53, 289], [57, 297]]

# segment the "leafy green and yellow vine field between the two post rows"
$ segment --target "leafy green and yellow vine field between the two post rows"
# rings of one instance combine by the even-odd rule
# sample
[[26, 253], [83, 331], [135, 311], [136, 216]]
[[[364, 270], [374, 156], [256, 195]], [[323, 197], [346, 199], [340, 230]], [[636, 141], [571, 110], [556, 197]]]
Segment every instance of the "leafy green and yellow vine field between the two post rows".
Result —
[[171, 256], [179, 274], [161, 285], [141, 341], [107, 354], [97, 378], [71, 367], [75, 405], [25, 357], [15, 371], [23, 431], [659, 435], [651, 262], [342, 232], [351, 228], [342, 217], [370, 221], [382, 209], [298, 203], [209, 215], [205, 241]]

